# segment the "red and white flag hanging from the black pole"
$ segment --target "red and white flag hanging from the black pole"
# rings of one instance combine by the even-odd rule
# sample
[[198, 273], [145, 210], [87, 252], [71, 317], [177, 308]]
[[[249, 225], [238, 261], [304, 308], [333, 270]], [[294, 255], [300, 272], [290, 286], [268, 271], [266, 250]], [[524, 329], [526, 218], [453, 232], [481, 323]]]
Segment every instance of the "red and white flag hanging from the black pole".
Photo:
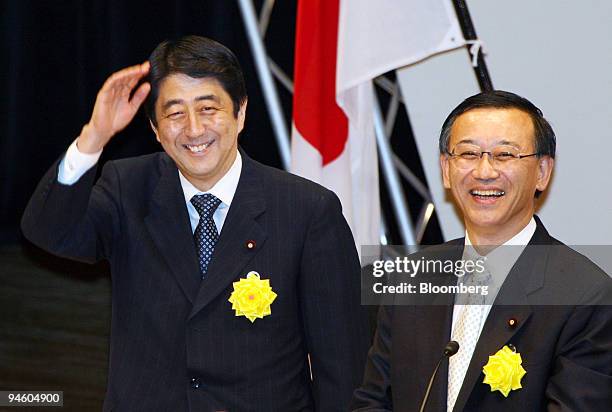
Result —
[[338, 195], [360, 255], [380, 239], [372, 79], [463, 44], [450, 0], [298, 3], [291, 171]]

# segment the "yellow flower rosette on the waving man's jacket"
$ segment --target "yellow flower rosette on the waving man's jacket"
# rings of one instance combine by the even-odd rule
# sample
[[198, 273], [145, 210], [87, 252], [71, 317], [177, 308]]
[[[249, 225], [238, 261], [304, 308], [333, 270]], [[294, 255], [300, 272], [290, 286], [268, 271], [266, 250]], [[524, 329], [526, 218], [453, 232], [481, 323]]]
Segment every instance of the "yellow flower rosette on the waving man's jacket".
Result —
[[269, 279], [260, 279], [259, 273], [249, 272], [246, 278], [234, 282], [234, 291], [229, 302], [236, 311], [236, 316], [245, 316], [253, 323], [255, 319], [272, 313], [270, 305], [276, 296]]

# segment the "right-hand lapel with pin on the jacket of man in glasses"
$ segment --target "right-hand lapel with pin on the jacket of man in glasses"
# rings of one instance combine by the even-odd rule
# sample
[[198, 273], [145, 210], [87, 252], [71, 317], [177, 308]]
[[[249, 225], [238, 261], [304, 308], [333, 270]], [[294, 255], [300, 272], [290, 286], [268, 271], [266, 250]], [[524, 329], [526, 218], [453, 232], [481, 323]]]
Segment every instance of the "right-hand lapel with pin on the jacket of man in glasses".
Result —
[[[508, 273], [484, 324], [455, 402], [456, 411], [465, 408], [475, 385], [482, 384], [482, 368], [488, 362], [489, 356], [494, 355], [504, 345], [512, 343], [512, 337], [525, 325], [532, 314], [528, 296], [544, 285], [547, 249], [532, 246], [550, 244], [551, 238], [537, 216], [535, 219], [536, 232]], [[515, 326], [509, 325], [508, 320], [511, 318], [515, 319]], [[517, 351], [520, 350], [521, 348], [517, 347]]]

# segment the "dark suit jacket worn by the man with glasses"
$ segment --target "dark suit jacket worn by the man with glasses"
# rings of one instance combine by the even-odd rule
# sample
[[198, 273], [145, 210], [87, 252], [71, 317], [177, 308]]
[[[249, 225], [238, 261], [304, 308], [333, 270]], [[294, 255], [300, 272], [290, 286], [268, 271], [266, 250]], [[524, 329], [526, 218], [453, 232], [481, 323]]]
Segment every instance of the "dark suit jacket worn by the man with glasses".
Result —
[[[541, 247], [526, 248], [508, 274], [483, 327], [454, 411], [612, 408], [612, 306], [601, 305], [612, 304], [612, 279], [550, 237], [537, 217], [536, 222], [530, 245]], [[458, 239], [425, 253], [458, 260], [463, 243], [464, 239]], [[456, 283], [453, 275], [444, 278], [447, 285]], [[454, 297], [435, 299], [440, 299], [439, 305], [381, 306], [352, 410], [419, 410], [429, 378], [450, 340]], [[500, 301], [506, 304], [499, 305]], [[559, 305], [563, 302], [568, 304]], [[510, 319], [516, 321], [514, 326]], [[482, 368], [489, 355], [507, 344], [517, 348], [527, 374], [523, 388], [504, 398], [482, 382]], [[426, 411], [446, 411], [447, 381], [445, 360]]]

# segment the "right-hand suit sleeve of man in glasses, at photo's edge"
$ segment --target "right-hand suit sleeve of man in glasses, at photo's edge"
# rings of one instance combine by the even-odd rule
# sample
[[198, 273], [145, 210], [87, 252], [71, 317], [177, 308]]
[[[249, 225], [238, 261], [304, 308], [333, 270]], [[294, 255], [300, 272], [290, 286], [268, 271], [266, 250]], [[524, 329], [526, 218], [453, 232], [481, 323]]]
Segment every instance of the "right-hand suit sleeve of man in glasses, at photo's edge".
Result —
[[[594, 288], [595, 304], [577, 306], [564, 327], [546, 387], [547, 410], [604, 411], [612, 405], [612, 281]], [[604, 302], [605, 305], [597, 304]]]

